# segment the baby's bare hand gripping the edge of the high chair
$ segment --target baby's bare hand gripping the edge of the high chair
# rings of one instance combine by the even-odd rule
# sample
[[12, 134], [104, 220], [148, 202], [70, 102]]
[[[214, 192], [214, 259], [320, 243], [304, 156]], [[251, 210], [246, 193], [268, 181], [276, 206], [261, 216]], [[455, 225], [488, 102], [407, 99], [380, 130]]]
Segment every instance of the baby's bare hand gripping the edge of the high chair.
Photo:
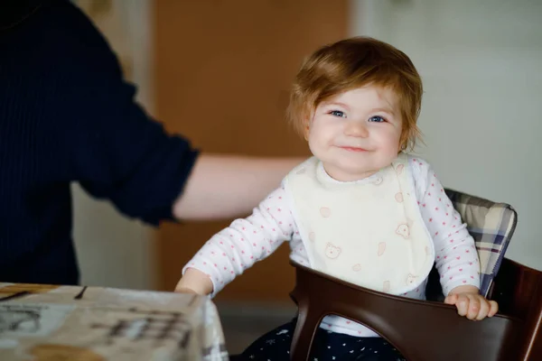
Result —
[[495, 301], [488, 301], [478, 293], [478, 288], [474, 286], [455, 287], [444, 303], [455, 305], [457, 313], [460, 316], [466, 316], [467, 319], [481, 320], [486, 317], [493, 317], [499, 310], [499, 305]]

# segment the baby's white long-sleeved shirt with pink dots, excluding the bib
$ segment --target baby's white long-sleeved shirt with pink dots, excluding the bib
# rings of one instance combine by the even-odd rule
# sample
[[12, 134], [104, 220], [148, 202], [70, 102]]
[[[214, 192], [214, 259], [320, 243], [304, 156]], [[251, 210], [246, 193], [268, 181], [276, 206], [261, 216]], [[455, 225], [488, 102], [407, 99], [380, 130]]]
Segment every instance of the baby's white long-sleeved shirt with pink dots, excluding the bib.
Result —
[[[444, 295], [461, 285], [480, 287], [480, 264], [472, 236], [446, 196], [432, 167], [414, 156], [409, 156], [409, 162], [417, 203], [425, 227], [435, 243], [435, 264]], [[284, 187], [274, 190], [254, 209], [251, 216], [236, 219], [229, 227], [212, 236], [183, 270], [192, 267], [208, 274], [213, 283], [214, 296], [236, 276], [275, 252], [285, 241], [289, 241], [290, 258], [310, 267], [290, 204]], [[425, 299], [425, 284], [426, 280], [419, 288], [403, 296]], [[321, 327], [354, 336], [376, 336], [362, 325], [338, 316], [325, 317]]]

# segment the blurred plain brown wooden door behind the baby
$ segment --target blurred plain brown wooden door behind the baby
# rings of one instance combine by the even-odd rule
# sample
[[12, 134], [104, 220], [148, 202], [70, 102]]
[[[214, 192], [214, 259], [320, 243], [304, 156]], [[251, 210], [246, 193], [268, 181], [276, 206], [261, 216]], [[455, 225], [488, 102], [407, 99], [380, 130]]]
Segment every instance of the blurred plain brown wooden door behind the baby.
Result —
[[[210, 153], [309, 155], [285, 122], [289, 88], [304, 56], [346, 36], [346, 0], [154, 4], [156, 110], [168, 130]], [[161, 289], [173, 290], [182, 266], [230, 221], [161, 227]], [[283, 245], [218, 299], [288, 301], [288, 254]]]

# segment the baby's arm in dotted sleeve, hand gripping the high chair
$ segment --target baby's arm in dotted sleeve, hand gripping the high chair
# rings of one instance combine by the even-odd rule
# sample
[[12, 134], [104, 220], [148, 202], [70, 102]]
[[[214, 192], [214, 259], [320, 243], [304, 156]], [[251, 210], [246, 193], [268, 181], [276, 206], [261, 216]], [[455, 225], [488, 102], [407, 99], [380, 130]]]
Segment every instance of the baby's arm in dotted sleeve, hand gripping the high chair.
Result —
[[445, 302], [454, 304], [458, 313], [468, 319], [491, 317], [498, 305], [479, 293], [480, 262], [474, 239], [446, 196], [435, 171], [424, 161], [417, 165], [422, 174], [425, 172], [420, 209], [435, 243], [435, 263], [447, 296]]

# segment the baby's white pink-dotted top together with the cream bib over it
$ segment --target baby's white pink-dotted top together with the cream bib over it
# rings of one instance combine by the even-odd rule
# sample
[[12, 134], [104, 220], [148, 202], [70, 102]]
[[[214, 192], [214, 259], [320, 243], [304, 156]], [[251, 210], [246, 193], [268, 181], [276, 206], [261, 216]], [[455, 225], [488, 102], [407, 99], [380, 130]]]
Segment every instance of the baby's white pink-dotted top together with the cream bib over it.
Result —
[[[424, 300], [434, 263], [444, 295], [460, 285], [480, 287], [472, 236], [429, 164], [405, 153], [372, 176], [348, 182], [333, 180], [310, 158], [251, 216], [212, 236], [183, 273], [192, 267], [208, 274], [214, 296], [284, 241], [294, 262], [379, 292]], [[378, 336], [339, 316], [326, 316], [321, 327]]]

